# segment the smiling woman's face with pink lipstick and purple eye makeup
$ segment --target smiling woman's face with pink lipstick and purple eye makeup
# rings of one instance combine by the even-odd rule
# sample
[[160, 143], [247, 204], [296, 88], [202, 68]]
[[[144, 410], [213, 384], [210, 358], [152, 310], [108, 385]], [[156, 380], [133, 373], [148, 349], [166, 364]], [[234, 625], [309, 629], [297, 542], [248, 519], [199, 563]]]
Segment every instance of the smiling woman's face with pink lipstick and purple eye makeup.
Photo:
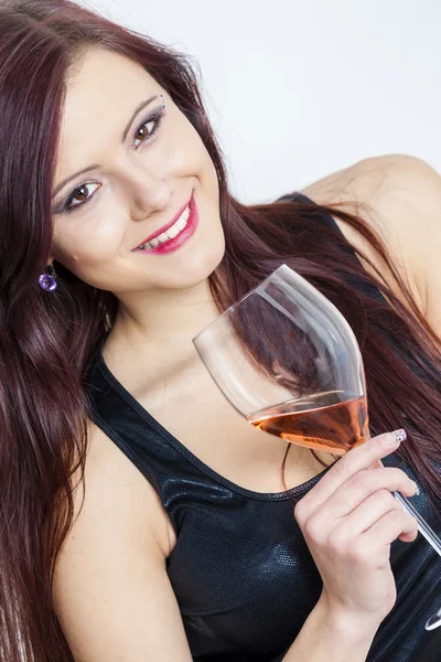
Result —
[[141, 66], [103, 49], [67, 81], [53, 210], [52, 257], [116, 295], [194, 287], [224, 255], [198, 134]]

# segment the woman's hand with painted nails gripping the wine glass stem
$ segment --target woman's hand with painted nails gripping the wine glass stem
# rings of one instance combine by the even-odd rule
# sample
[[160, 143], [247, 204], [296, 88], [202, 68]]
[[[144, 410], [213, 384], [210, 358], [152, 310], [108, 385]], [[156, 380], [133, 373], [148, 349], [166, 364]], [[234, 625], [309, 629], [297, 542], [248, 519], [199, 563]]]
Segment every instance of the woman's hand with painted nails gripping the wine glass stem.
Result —
[[399, 446], [395, 433], [347, 452], [295, 505], [294, 515], [323, 580], [320, 601], [333, 613], [378, 627], [396, 601], [390, 544], [417, 537], [415, 517], [390, 492], [416, 483], [400, 469], [373, 468]]

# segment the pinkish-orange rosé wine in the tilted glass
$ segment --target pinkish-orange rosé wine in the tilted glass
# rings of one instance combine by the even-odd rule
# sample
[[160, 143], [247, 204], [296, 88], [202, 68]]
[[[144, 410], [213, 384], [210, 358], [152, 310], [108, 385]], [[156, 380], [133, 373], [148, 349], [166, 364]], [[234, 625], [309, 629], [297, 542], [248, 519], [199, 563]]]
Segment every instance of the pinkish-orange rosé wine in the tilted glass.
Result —
[[281, 439], [333, 455], [344, 455], [367, 438], [366, 398], [344, 399], [338, 391], [257, 412], [248, 417], [256, 428]]

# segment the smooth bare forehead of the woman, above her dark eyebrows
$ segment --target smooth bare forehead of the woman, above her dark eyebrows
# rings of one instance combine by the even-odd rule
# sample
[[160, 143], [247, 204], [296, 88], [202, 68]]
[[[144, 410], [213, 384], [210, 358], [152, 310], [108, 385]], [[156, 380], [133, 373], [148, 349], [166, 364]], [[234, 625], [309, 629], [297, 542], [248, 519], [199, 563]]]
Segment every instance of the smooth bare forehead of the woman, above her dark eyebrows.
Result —
[[137, 105], [159, 90], [131, 60], [104, 49], [86, 51], [66, 79], [56, 181], [99, 158], [106, 142], [120, 139]]

